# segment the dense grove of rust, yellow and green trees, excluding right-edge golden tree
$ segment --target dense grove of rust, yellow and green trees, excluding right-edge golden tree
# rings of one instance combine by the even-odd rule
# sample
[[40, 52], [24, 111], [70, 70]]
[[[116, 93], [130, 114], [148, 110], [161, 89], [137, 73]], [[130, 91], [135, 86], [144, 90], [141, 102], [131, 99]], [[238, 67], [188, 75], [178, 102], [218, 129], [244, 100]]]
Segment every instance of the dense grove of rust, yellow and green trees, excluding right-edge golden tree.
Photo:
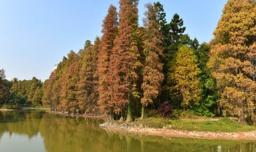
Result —
[[[206, 67], [210, 46], [184, 34], [178, 14], [166, 22], [161, 3], [146, 4], [138, 26], [138, 1], [110, 6], [102, 37], [70, 51], [43, 86], [43, 104], [68, 113], [144, 117], [145, 108], [168, 102], [174, 109], [217, 114], [215, 80]], [[204, 87], [205, 82], [207, 86]]]

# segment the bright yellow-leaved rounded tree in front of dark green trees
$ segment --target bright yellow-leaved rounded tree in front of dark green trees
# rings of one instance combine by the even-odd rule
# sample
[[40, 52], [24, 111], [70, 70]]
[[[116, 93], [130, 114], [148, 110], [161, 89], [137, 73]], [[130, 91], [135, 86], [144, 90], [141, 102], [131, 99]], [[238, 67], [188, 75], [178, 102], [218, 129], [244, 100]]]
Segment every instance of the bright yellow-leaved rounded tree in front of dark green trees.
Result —
[[189, 46], [180, 47], [171, 62], [168, 81], [174, 85], [170, 87], [170, 92], [173, 98], [181, 101], [183, 109], [198, 105], [201, 98], [197, 62], [194, 50]]

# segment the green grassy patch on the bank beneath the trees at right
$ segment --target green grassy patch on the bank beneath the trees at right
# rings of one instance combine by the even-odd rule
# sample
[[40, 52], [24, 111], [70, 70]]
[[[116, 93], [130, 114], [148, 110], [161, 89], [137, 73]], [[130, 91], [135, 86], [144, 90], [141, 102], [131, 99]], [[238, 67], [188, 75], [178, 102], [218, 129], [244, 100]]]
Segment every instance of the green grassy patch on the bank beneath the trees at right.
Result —
[[210, 132], [242, 132], [256, 130], [256, 126], [242, 125], [236, 118], [206, 118], [194, 115], [192, 112], [180, 114], [180, 117], [174, 120], [170, 118], [161, 118], [158, 114], [152, 114], [152, 112], [148, 113], [148, 116], [150, 117], [133, 122], [134, 125], [152, 128]]

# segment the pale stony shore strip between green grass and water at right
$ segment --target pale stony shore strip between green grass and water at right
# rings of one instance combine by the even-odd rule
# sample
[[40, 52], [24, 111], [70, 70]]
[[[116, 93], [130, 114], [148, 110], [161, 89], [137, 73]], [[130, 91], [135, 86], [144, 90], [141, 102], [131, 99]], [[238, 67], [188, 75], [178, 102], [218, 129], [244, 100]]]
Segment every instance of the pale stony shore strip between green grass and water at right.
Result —
[[105, 130], [114, 132], [127, 132], [130, 134], [147, 134], [164, 137], [179, 138], [201, 138], [201, 139], [224, 139], [224, 140], [256, 140], [256, 130], [248, 132], [206, 132], [206, 131], [186, 131], [171, 129], [154, 129], [130, 124], [117, 124], [105, 122], [100, 125]]

